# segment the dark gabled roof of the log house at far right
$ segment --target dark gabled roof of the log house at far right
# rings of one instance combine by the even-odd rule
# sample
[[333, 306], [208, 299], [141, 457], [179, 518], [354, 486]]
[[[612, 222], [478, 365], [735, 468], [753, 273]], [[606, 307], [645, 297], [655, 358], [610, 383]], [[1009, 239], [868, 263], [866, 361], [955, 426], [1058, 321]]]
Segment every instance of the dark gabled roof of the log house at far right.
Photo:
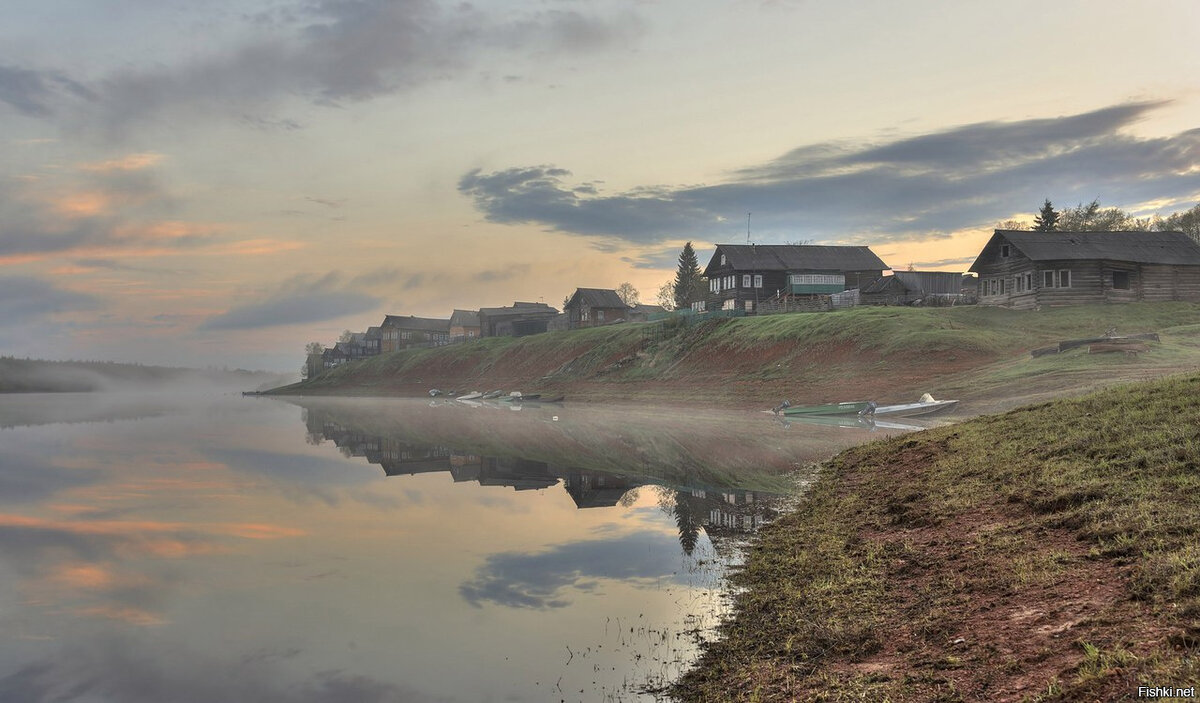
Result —
[[[1106, 259], [1200, 266], [1200, 245], [1182, 232], [1025, 232], [997, 229], [971, 271], [1000, 240], [1034, 262]], [[998, 246], [998, 245], [997, 245]]]

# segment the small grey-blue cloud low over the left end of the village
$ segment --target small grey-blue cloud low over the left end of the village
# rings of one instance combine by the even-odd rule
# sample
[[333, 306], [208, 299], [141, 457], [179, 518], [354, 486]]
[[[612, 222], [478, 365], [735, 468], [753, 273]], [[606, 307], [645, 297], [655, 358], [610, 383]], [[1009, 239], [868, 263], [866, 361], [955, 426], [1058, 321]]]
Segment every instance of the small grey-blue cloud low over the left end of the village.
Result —
[[202, 330], [254, 330], [319, 323], [370, 312], [382, 300], [344, 284], [341, 275], [296, 276], [263, 298], [210, 317]]

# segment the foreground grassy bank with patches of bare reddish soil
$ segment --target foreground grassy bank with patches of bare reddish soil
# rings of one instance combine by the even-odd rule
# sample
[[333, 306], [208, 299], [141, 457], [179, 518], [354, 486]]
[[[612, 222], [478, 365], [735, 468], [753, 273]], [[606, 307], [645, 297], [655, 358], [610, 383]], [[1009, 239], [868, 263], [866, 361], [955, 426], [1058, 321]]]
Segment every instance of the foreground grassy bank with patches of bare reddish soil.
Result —
[[1200, 681], [1200, 375], [852, 449], [761, 535], [684, 701]]

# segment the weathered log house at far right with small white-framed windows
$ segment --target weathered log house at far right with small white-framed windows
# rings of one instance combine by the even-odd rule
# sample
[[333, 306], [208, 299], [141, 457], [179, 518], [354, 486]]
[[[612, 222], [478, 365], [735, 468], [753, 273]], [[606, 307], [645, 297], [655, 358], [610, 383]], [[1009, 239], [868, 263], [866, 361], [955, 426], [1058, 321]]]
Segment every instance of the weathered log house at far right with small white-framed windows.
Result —
[[980, 305], [1200, 301], [1200, 245], [1181, 232], [997, 229], [971, 271]]

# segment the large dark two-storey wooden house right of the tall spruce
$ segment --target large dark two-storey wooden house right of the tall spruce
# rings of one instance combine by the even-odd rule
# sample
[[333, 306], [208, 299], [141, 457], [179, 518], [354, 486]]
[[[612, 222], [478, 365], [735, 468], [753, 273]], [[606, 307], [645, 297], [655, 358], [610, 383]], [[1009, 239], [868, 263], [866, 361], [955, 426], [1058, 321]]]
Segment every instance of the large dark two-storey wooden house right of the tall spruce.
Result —
[[772, 298], [859, 289], [887, 268], [865, 246], [716, 245], [704, 268], [707, 305], [754, 313]]

